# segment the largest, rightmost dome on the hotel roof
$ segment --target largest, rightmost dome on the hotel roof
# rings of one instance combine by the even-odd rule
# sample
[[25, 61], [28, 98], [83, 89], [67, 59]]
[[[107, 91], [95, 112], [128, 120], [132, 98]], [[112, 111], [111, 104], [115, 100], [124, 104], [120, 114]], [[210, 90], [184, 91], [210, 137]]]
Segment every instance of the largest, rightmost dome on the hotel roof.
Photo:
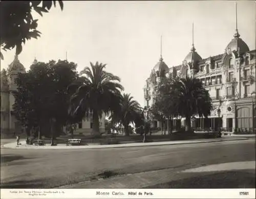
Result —
[[234, 38], [228, 43], [226, 51], [240, 51], [241, 53], [245, 53], [250, 51], [247, 44], [240, 38], [240, 34], [238, 31], [234, 34]]

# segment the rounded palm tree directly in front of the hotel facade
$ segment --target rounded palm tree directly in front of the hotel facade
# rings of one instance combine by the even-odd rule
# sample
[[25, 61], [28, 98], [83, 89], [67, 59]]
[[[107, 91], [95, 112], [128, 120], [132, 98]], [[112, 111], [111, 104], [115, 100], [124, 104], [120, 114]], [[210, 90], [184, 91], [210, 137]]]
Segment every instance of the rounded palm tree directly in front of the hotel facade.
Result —
[[186, 130], [191, 130], [191, 117], [208, 117], [212, 102], [208, 91], [196, 78], [181, 78], [171, 85], [169, 109], [176, 116], [186, 118]]

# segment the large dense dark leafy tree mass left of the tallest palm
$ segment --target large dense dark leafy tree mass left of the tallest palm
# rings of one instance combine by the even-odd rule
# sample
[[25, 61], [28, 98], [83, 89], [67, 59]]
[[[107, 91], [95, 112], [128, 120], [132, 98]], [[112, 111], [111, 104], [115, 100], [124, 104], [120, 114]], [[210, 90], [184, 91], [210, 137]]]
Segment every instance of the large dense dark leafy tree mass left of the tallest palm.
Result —
[[67, 87], [78, 78], [76, 67], [73, 62], [52, 60], [37, 62], [27, 73], [19, 73], [12, 114], [23, 126], [39, 126], [41, 135], [50, 136], [51, 122], [55, 128], [65, 125], [71, 96]]

